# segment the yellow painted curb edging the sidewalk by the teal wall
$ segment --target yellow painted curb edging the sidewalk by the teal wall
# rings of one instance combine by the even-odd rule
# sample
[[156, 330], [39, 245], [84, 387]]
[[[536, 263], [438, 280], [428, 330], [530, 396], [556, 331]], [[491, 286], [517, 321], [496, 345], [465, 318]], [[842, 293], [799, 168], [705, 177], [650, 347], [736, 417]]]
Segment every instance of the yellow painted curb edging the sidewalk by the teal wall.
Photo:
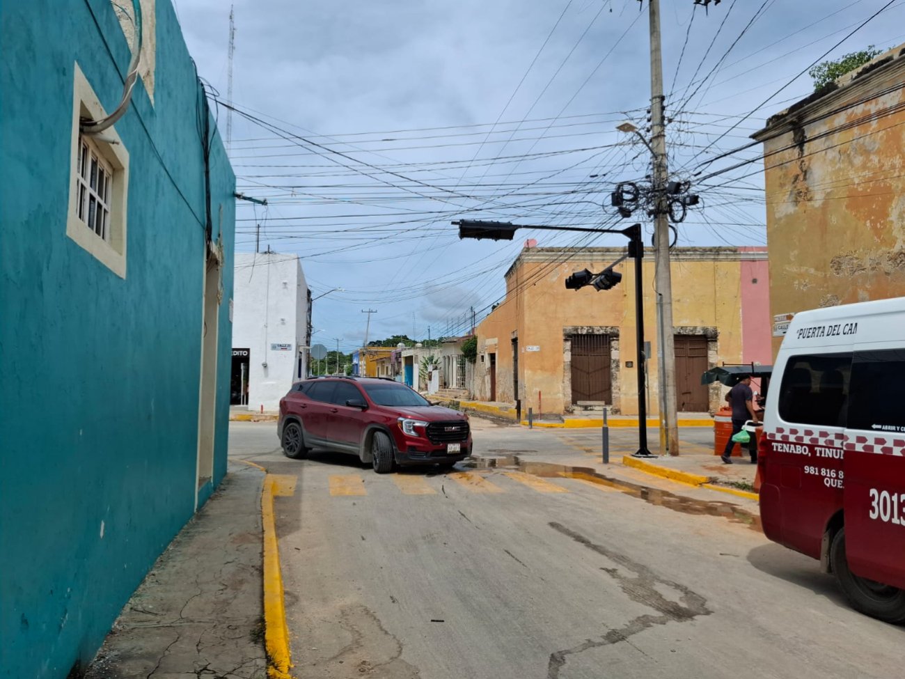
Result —
[[[253, 464], [253, 463], [250, 463]], [[283, 601], [280, 550], [277, 546], [276, 521], [273, 518], [273, 496], [291, 495], [295, 477], [267, 474], [261, 493], [261, 519], [264, 529], [264, 647], [267, 650], [267, 675], [271, 679], [292, 679], [292, 656], [286, 607]]]

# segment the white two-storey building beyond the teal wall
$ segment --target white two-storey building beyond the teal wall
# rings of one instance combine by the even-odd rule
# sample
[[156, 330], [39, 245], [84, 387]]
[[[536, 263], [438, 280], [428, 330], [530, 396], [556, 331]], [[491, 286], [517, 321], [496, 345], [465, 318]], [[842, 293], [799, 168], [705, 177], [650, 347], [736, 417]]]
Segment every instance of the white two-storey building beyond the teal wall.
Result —
[[310, 292], [294, 254], [236, 253], [230, 403], [276, 410], [308, 374]]

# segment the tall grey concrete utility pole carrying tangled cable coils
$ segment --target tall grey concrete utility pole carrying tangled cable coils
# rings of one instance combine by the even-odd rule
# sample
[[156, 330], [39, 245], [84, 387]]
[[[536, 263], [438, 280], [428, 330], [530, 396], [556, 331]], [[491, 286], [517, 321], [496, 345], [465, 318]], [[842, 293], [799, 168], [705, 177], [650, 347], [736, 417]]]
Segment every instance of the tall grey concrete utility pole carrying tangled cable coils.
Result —
[[651, 147], [653, 150], [654, 209], [654, 282], [657, 318], [660, 321], [660, 356], [662, 365], [660, 453], [679, 454], [679, 426], [676, 416], [676, 364], [672, 336], [672, 276], [670, 273], [670, 225], [666, 185], [666, 129], [663, 120], [663, 58], [660, 45], [660, 0], [648, 0], [651, 24]]

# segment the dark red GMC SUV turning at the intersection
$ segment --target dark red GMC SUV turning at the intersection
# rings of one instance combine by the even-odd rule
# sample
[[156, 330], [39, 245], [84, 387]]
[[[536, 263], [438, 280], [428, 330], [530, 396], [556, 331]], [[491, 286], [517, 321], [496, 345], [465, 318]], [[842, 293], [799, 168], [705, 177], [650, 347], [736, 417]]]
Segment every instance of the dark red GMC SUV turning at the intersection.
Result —
[[386, 378], [297, 382], [280, 400], [277, 435], [287, 457], [326, 448], [355, 454], [376, 473], [395, 464], [452, 466], [472, 453], [468, 416]]

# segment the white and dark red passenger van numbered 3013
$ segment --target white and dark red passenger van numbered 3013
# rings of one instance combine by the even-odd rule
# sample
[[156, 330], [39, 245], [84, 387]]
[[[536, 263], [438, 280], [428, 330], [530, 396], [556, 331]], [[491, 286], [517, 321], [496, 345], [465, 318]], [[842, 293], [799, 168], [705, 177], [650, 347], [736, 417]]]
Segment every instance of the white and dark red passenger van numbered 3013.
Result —
[[905, 297], [795, 315], [757, 464], [767, 538], [820, 559], [853, 607], [905, 622]]

